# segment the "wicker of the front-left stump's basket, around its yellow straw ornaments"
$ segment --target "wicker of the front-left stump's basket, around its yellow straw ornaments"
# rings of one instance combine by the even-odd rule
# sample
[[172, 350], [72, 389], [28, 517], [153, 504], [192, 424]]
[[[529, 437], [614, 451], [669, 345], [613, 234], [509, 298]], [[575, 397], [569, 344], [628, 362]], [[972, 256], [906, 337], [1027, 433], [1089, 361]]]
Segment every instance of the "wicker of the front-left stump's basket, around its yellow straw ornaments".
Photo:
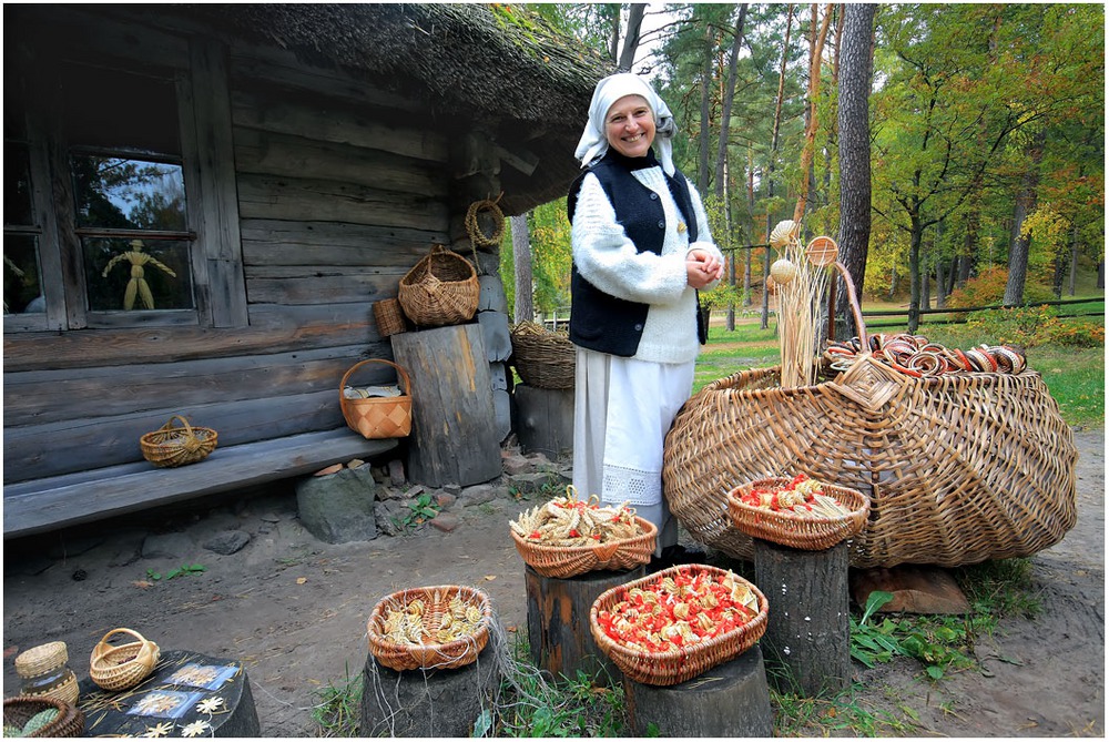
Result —
[[[450, 600], [458, 596], [481, 613], [478, 629], [468, 637], [445, 643], [427, 641], [409, 644], [391, 641], [385, 637], [386, 611], [390, 608], [407, 608], [414, 601], [424, 602], [423, 624], [425, 636], [438, 629], [445, 613], [449, 612]], [[458, 585], [442, 585], [428, 588], [400, 590], [384, 598], [369, 614], [367, 633], [369, 651], [378, 662], [393, 670], [454, 670], [478, 659], [478, 654], [489, 642], [492, 626], [492, 602], [489, 596], [475, 588]]]

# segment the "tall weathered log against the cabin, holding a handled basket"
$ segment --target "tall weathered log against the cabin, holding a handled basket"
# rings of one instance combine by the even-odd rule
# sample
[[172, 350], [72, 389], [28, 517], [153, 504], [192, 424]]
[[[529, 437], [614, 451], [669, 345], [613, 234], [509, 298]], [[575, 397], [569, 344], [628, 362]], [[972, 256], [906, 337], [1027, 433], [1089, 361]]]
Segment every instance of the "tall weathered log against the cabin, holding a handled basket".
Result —
[[492, 377], [476, 323], [389, 338], [411, 376], [408, 474], [430, 487], [489, 481], [501, 474]]

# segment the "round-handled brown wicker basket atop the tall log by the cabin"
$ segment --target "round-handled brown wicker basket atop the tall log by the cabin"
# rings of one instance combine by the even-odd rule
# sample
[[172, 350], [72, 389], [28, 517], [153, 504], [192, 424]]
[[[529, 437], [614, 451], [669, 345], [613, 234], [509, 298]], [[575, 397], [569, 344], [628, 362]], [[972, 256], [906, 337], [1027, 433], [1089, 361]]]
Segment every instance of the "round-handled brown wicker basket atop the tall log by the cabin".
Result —
[[400, 279], [397, 299], [418, 327], [442, 327], [469, 322], [480, 295], [470, 262], [442, 245], [431, 245], [431, 252]]

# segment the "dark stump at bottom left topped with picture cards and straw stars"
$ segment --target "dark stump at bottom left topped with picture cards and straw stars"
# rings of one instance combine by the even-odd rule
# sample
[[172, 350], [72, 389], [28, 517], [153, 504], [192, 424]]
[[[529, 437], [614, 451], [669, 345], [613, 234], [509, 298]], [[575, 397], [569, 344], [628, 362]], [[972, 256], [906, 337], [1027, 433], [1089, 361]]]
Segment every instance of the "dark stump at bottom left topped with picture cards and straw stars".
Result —
[[246, 669], [196, 652], [162, 652], [139, 684], [105, 691], [81, 681], [84, 736], [262, 736]]

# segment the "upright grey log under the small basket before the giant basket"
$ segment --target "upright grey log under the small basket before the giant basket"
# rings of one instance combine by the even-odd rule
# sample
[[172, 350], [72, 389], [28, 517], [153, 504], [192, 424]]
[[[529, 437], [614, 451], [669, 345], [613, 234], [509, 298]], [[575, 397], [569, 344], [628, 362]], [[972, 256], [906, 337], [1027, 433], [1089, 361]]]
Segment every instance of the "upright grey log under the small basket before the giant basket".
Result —
[[770, 617], [761, 640], [771, 683], [806, 698], [851, 683], [847, 545], [805, 551], [754, 539], [755, 585]]

